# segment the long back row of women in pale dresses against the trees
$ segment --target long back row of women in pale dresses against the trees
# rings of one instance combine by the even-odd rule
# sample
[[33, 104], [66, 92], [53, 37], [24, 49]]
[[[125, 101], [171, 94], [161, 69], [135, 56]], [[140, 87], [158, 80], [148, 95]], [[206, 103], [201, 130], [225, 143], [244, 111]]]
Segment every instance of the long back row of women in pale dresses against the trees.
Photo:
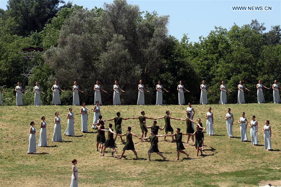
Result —
[[[264, 100], [264, 93], [263, 89], [270, 89], [265, 87], [262, 83], [261, 80], [259, 80], [259, 83], [256, 85], [257, 87], [257, 100], [258, 103], [265, 103]], [[145, 98], [144, 98], [144, 92], [149, 92], [148, 90], [145, 89], [144, 84], [142, 83], [142, 80], [140, 80], [140, 84], [138, 85], [138, 100], [137, 100], [137, 105], [145, 105]], [[240, 80], [239, 84], [237, 85], [238, 88], [238, 96], [237, 96], [237, 103], [245, 103], [244, 99], [244, 90], [250, 91], [247, 89], [244, 84], [242, 84], [242, 81]], [[208, 86], [205, 84], [205, 80], [202, 81], [202, 84], [200, 85], [201, 89], [201, 95], [200, 95], [200, 104], [207, 104], [208, 103], [208, 98], [207, 98], [207, 90], [211, 93], [212, 91], [208, 88]], [[280, 95], [279, 95], [279, 89], [281, 89], [280, 85], [277, 83], [277, 80], [274, 80], [274, 84], [272, 85], [273, 89], [273, 102], [274, 103], [281, 103]], [[65, 90], [61, 89], [60, 85], [58, 84], [57, 81], [55, 81], [55, 84], [51, 88], [53, 92], [53, 98], [52, 98], [52, 105], [60, 105], [61, 100], [60, 100], [60, 94], [59, 91], [64, 92]], [[72, 105], [80, 105], [79, 101], [79, 91], [84, 93], [79, 86], [77, 85], [77, 82], [74, 81], [74, 85], [72, 86], [73, 90], [73, 102]], [[163, 105], [163, 90], [166, 92], [169, 92], [164, 88], [164, 86], [161, 84], [160, 80], [158, 81], [158, 84], [156, 85], [156, 105]], [[180, 84], [177, 86], [178, 90], [178, 100], [179, 100], [179, 105], [185, 104], [185, 97], [184, 97], [184, 91], [189, 92], [187, 89], [185, 89], [184, 85], [182, 84], [182, 81], [180, 81]], [[224, 84], [224, 81], [221, 82], [220, 85], [220, 100], [219, 104], [227, 104], [227, 98], [226, 98], [226, 92], [232, 92], [227, 88], [227, 86]], [[3, 93], [6, 93], [2, 90], [2, 87], [0, 86], [0, 105], [2, 105], [2, 96], [1, 96], [1, 91]], [[26, 91], [22, 88], [20, 82], [17, 82], [17, 86], [15, 88], [16, 93], [16, 98], [17, 102], [16, 105], [20, 106], [22, 104], [22, 93], [26, 93]], [[41, 105], [41, 99], [40, 99], [40, 93], [45, 94], [38, 82], [36, 82], [36, 86], [33, 88], [34, 91], [34, 106]], [[99, 81], [96, 81], [96, 84], [94, 85], [94, 91], [95, 91], [95, 99], [94, 102], [96, 101], [100, 102], [100, 105], [102, 105], [101, 102], [101, 91], [107, 93], [105, 91]], [[120, 93], [119, 92], [125, 92], [124, 90], [121, 89], [119, 86], [117, 80], [115, 81], [113, 85], [113, 105], [121, 105], [121, 100], [120, 100]]]

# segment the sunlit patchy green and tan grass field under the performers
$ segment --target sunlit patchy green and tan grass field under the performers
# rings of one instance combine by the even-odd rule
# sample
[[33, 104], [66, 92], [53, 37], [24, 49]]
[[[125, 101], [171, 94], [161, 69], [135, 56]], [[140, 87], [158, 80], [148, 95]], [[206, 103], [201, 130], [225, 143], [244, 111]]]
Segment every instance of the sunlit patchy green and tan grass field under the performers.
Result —
[[[176, 158], [176, 145], [163, 142], [159, 138], [159, 150], [167, 157], [152, 154], [151, 161], [145, 161], [149, 142], [140, 142], [133, 137], [140, 160], [134, 160], [132, 151], [125, 152], [122, 160], [111, 157], [113, 152], [107, 149], [104, 157], [95, 151], [96, 130], [91, 129], [93, 112], [89, 112], [89, 133], [81, 133], [81, 115], [79, 106], [73, 107], [75, 118], [75, 136], [63, 136], [63, 142], [52, 143], [54, 113], [61, 117], [62, 133], [67, 127], [67, 113], [70, 106], [0, 106], [0, 184], [1, 186], [69, 186], [71, 183], [71, 160], [77, 159], [79, 186], [258, 186], [260, 181], [281, 185], [281, 105], [280, 104], [228, 104], [228, 105], [193, 105], [195, 119], [200, 117], [206, 127], [205, 113], [208, 107], [214, 113], [214, 134], [205, 135], [205, 156], [195, 157], [194, 146], [184, 144], [190, 159], [184, 154], [180, 161]], [[86, 106], [88, 110], [93, 106]], [[229, 139], [226, 132], [224, 116], [227, 108], [234, 114], [233, 135]], [[139, 116], [142, 110], [146, 116], [160, 117], [170, 110], [171, 116], [185, 117], [186, 106], [101, 106], [103, 119], [116, 116]], [[255, 115], [259, 122], [259, 146], [252, 146], [247, 128], [248, 142], [240, 141], [239, 124], [241, 112], [248, 120]], [[41, 116], [46, 117], [48, 147], [37, 147], [36, 155], [28, 155], [29, 123], [35, 122], [36, 141], [39, 141]], [[269, 119], [272, 128], [273, 151], [264, 150], [262, 128]], [[157, 121], [164, 125], [164, 119]], [[114, 122], [112, 122], [114, 123]], [[152, 120], [147, 120], [150, 125]], [[171, 120], [174, 128], [180, 127], [185, 132], [184, 121]], [[138, 120], [123, 120], [122, 132], [131, 126], [132, 132], [139, 135], [141, 130]], [[105, 127], [108, 127], [106, 122]], [[163, 134], [159, 131], [159, 134]], [[107, 137], [107, 136], [106, 136]], [[183, 140], [186, 141], [187, 136]], [[170, 141], [171, 137], [167, 137]], [[120, 139], [116, 140], [117, 154], [123, 149]]]

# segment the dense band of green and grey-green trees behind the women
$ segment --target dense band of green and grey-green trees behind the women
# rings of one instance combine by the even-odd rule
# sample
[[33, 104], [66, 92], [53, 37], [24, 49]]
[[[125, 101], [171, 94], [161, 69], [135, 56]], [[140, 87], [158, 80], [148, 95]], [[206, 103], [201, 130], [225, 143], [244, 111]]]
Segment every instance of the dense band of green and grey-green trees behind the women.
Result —
[[[257, 20], [243, 26], [234, 23], [229, 31], [215, 26], [208, 36], [192, 43], [188, 35], [180, 41], [168, 35], [169, 16], [141, 12], [126, 1], [91, 10], [71, 3], [58, 7], [61, 2], [10, 0], [8, 9], [0, 10], [0, 85], [9, 91], [2, 94], [3, 104], [15, 103], [13, 90], [18, 80], [28, 85], [24, 104], [33, 103], [36, 81], [46, 93], [41, 96], [43, 104], [52, 100], [54, 80], [68, 90], [61, 93], [63, 104], [72, 103], [74, 80], [85, 91], [80, 100], [87, 104], [94, 103], [96, 80], [109, 91], [102, 93], [104, 104], [112, 104], [114, 80], [126, 91], [121, 103], [136, 104], [140, 79], [150, 90], [145, 94], [147, 104], [155, 104], [158, 80], [169, 91], [164, 93], [163, 103], [177, 104], [180, 80], [191, 92], [185, 93], [186, 102], [193, 103], [199, 103], [203, 79], [213, 91], [208, 93], [209, 103], [219, 103], [222, 80], [234, 91], [227, 93], [229, 103], [237, 103], [239, 80], [251, 90], [245, 93], [247, 103], [257, 102], [259, 79], [267, 87], [274, 79], [281, 80], [280, 25], [268, 32]], [[26, 14], [21, 15], [23, 9]], [[29, 26], [28, 16], [39, 14], [42, 16], [33, 20], [36, 24]], [[22, 62], [17, 52], [28, 46], [43, 47], [46, 52], [35, 54], [32, 60], [37, 66], [25, 79], [20, 75]], [[272, 89], [264, 91], [264, 98], [272, 102]]]

